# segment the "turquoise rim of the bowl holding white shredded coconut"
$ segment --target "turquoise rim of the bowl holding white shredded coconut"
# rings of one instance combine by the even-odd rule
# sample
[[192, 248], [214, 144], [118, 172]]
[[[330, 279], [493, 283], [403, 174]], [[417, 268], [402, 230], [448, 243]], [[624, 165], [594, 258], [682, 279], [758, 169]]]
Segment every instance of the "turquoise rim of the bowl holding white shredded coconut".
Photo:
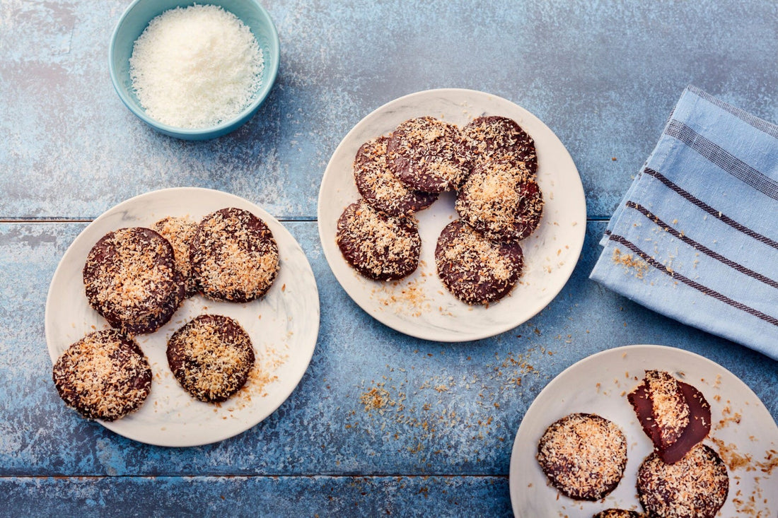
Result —
[[[114, 90], [116, 91], [117, 95], [121, 99], [121, 102], [124, 103], [124, 106], [128, 108], [132, 112], [132, 114], [135, 114], [136, 117], [144, 121], [146, 124], [149, 124], [152, 128], [155, 128], [158, 131], [163, 132], [166, 135], [176, 136], [180, 138], [196, 138], [196, 137], [208, 137], [209, 135], [214, 135], [215, 137], [225, 135], [226, 133], [229, 133], [230, 131], [233, 131], [233, 129], [237, 129], [242, 125], [244, 122], [247, 122], [248, 119], [252, 117], [254, 112], [259, 108], [261, 103], [265, 101], [265, 98], [269, 95], [272, 86], [275, 84], [275, 78], [278, 75], [279, 72], [279, 63], [281, 61], [281, 43], [279, 40], [279, 32], [275, 27], [275, 23], [273, 22], [272, 17], [270, 16], [270, 13], [267, 9], [261, 3], [259, 0], [247, 0], [248, 3], [251, 3], [254, 5], [258, 12], [260, 13], [261, 17], [265, 19], [267, 22], [267, 26], [269, 28], [269, 31], [267, 34], [263, 34], [266, 37], [268, 37], [270, 50], [272, 51], [274, 48], [277, 49], [277, 55], [273, 56], [272, 59], [268, 60], [263, 55], [263, 61], [264, 61], [264, 69], [262, 74], [264, 75], [262, 84], [260, 88], [258, 89], [256, 93], [256, 98], [249, 104], [247, 107], [244, 108], [244, 110], [240, 111], [239, 114], [237, 114], [235, 117], [232, 117], [230, 119], [227, 119], [226, 121], [222, 121], [219, 124], [216, 124], [215, 126], [206, 126], [205, 128], [180, 128], [178, 126], [171, 126], [170, 124], [164, 124], [163, 122], [157, 121], [156, 119], [149, 117], [145, 113], [145, 109], [143, 109], [142, 106], [140, 106], [139, 102], [135, 102], [128, 96], [127, 91], [124, 89], [124, 87], [120, 86], [121, 81], [118, 77], [119, 73], [114, 68], [114, 52], [116, 51], [116, 40], [117, 35], [119, 33], [119, 30], [121, 29], [121, 26], [124, 24], [124, 21], [129, 16], [130, 12], [132, 12], [133, 9], [137, 7], [138, 4], [142, 2], [149, 2], [153, 0], [133, 0], [130, 5], [127, 6], [126, 9], [124, 9], [124, 12], [121, 13], [121, 16], [119, 17], [116, 26], [114, 26], [114, 31], [111, 33], [110, 37], [110, 44], [108, 45], [108, 70], [110, 72], [110, 80], [114, 85]], [[180, 5], [179, 7], [190, 6], [190, 5], [217, 5], [224, 9], [225, 11], [229, 11], [229, 9], [225, 9], [223, 6], [219, 5], [219, 0], [205, 0], [205, 2], [198, 2], [197, 0], [184, 0], [183, 2], [178, 2]], [[170, 9], [176, 9], [175, 7], [170, 7], [169, 9], [165, 9], [163, 12], [166, 12]], [[233, 15], [235, 13], [231, 12]], [[160, 13], [161, 14], [161, 13]], [[159, 15], [157, 15], [159, 16]], [[235, 15], [237, 17], [237, 15]], [[240, 19], [240, 17], [238, 17]], [[243, 19], [240, 19], [241, 23], [244, 23], [249, 30], [251, 30], [252, 33], [254, 33], [254, 30], [251, 29], [251, 26], [248, 26], [247, 23], [243, 21]], [[146, 26], [151, 22], [151, 19], [149, 19], [146, 22]], [[145, 29], [144, 29], [145, 30]], [[254, 34], [254, 38], [257, 38], [257, 35]], [[263, 54], [265, 54], [263, 52]], [[274, 54], [272, 52], [268, 54]], [[269, 66], [268, 66], [269, 65]]]

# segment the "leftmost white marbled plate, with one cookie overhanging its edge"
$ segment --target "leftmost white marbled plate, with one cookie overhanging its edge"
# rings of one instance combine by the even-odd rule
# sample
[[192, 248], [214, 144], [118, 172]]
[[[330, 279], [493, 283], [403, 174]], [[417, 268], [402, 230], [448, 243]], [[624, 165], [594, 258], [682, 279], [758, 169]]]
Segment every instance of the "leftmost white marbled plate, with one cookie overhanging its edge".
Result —
[[[272, 215], [243, 198], [184, 187], [124, 201], [75, 238], [54, 272], [46, 301], [46, 341], [52, 362], [88, 332], [108, 327], [87, 303], [82, 279], [86, 255], [100, 237], [122, 227], [152, 226], [166, 215], [188, 215], [198, 221], [225, 207], [244, 208], [268, 224], [279, 245], [279, 276], [264, 298], [247, 304], [216, 302], [202, 296], [186, 299], [159, 331], [135, 337], [151, 363], [152, 389], [138, 411], [114, 422], [100, 421], [121, 436], [159, 446], [197, 446], [235, 436], [286, 401], [314, 354], [319, 296], [314, 273], [294, 237]], [[222, 404], [195, 400], [180, 387], [167, 365], [167, 339], [202, 313], [238, 320], [251, 336], [257, 357], [246, 386]]]

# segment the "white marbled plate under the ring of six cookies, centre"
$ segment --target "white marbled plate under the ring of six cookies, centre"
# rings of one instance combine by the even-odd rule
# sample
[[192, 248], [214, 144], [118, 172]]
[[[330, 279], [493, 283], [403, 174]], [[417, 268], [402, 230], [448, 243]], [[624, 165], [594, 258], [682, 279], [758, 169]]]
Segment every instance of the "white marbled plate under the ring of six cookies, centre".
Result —
[[[402, 121], [431, 115], [464, 126], [482, 115], [503, 115], [520, 124], [538, 150], [538, 183], [545, 208], [541, 225], [522, 242], [524, 275], [510, 296], [490, 305], [468, 306], [447, 291], [435, 268], [440, 231], [453, 219], [454, 197], [443, 194], [419, 212], [419, 268], [399, 282], [361, 277], [343, 258], [335, 233], [343, 209], [359, 199], [352, 163], [360, 145], [388, 135]], [[586, 201], [578, 170], [559, 138], [538, 117], [498, 96], [465, 89], [437, 89], [393, 100], [373, 111], [343, 138], [321, 180], [319, 236], [335, 278], [377, 320], [402, 333], [435, 341], [486, 338], [524, 323], [559, 293], [578, 261], [586, 231]]]

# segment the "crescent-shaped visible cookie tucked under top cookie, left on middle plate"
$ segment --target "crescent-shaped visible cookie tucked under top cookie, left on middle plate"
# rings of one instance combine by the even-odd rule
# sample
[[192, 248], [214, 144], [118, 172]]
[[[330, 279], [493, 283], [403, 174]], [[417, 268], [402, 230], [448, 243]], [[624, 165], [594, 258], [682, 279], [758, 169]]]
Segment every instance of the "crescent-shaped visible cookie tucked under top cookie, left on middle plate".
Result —
[[415, 191], [403, 184], [387, 163], [388, 137], [365, 142], [354, 159], [354, 180], [359, 194], [373, 208], [391, 216], [409, 216], [432, 205], [435, 193]]

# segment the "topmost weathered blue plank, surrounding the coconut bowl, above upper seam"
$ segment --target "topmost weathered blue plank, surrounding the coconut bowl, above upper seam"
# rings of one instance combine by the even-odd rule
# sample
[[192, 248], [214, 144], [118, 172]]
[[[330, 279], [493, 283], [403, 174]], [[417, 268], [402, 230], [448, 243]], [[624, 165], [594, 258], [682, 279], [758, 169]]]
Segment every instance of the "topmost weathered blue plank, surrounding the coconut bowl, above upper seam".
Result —
[[589, 215], [608, 217], [687, 84], [778, 121], [770, 0], [264, 3], [281, 38], [275, 89], [237, 133], [192, 143], [156, 135], [113, 91], [107, 46], [128, 2], [2, 0], [2, 215], [93, 218], [194, 185], [308, 217], [357, 121], [406, 93], [461, 87], [545, 121], [580, 169]]

